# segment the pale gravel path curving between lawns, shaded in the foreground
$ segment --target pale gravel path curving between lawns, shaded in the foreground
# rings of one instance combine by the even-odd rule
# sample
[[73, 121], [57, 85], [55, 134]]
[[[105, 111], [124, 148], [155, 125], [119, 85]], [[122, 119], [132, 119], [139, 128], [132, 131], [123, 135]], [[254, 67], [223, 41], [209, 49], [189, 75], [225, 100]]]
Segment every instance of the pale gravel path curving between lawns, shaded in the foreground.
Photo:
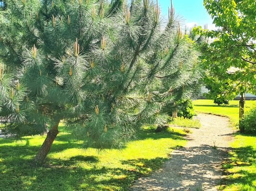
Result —
[[217, 191], [221, 163], [228, 157], [233, 130], [228, 118], [199, 114], [200, 129], [192, 129], [186, 147], [150, 177], [140, 178], [131, 191]]

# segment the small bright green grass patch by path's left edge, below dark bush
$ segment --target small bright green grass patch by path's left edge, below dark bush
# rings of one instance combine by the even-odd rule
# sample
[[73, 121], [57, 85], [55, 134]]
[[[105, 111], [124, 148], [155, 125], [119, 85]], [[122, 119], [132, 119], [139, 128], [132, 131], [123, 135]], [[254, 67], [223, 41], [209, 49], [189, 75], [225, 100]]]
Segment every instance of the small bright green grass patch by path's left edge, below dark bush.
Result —
[[198, 119], [188, 119], [184, 117], [174, 118], [172, 122], [170, 122], [171, 126], [178, 127], [190, 127], [190, 128], [200, 128], [201, 124]]

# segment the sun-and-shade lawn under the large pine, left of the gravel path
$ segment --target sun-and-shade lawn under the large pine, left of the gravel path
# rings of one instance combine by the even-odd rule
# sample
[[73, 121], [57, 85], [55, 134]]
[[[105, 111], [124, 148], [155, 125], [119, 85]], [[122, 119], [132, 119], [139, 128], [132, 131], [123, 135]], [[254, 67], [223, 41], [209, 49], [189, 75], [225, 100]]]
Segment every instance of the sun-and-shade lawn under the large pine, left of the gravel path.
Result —
[[141, 130], [122, 150], [83, 149], [82, 141], [64, 128], [50, 150], [47, 164], [34, 168], [45, 136], [0, 139], [0, 191], [124, 191], [132, 181], [161, 168], [172, 149], [183, 147], [182, 130]]

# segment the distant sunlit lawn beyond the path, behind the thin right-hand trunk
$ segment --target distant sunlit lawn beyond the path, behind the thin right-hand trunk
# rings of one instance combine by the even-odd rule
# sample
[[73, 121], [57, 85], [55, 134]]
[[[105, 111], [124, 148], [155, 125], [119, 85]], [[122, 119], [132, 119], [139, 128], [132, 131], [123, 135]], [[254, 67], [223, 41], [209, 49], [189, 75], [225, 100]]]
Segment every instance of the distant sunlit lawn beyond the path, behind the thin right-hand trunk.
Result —
[[[239, 101], [232, 100], [230, 104], [225, 106], [218, 106], [213, 103], [213, 100], [209, 99], [198, 99], [193, 101], [195, 110], [200, 113], [209, 113], [221, 116], [227, 116], [233, 125], [237, 124], [239, 121]], [[256, 101], [245, 101], [245, 112], [248, 111], [253, 106], [256, 106]]]

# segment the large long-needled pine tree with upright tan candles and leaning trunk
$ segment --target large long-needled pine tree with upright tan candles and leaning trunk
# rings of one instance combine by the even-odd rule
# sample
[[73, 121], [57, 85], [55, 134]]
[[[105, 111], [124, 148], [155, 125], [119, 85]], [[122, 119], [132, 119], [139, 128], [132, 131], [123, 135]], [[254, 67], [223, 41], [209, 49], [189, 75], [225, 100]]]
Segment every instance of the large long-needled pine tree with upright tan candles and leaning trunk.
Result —
[[42, 164], [65, 121], [87, 147], [120, 147], [200, 78], [198, 52], [169, 9], [150, 0], [7, 1], [0, 11], [0, 109], [17, 136], [47, 133]]

